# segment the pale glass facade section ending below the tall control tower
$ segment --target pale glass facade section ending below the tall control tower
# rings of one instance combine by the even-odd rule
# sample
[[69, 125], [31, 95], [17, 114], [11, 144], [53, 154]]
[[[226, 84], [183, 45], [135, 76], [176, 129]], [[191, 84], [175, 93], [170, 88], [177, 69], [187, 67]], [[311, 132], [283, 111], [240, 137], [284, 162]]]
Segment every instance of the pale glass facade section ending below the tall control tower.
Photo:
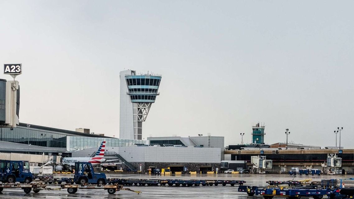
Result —
[[149, 144], [148, 140], [126, 140], [119, 138], [101, 138], [101, 137], [77, 137], [68, 136], [67, 146], [68, 151], [82, 150], [98, 147], [102, 141], [106, 141], [106, 147], [129, 147], [136, 143], [138, 144]]

